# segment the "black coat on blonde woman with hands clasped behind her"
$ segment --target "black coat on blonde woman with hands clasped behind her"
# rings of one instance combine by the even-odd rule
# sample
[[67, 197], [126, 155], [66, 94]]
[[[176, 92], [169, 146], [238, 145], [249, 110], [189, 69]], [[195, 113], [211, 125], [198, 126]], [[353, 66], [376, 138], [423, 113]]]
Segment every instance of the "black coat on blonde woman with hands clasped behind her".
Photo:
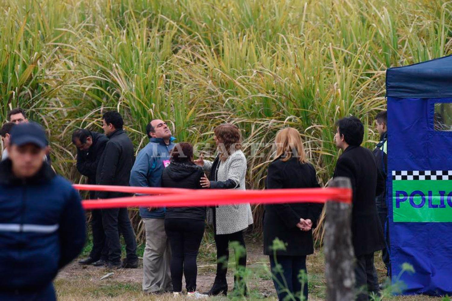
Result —
[[[302, 164], [297, 158], [292, 157], [287, 162], [277, 159], [268, 166], [267, 189], [316, 187], [320, 185], [315, 177], [315, 169], [310, 163]], [[314, 252], [312, 230], [301, 231], [297, 223], [300, 222], [300, 218], [309, 218], [312, 221], [312, 228], [315, 228], [323, 208], [322, 204], [272, 204], [265, 205], [264, 208], [265, 255], [273, 255], [271, 247], [275, 238], [287, 244], [286, 251], [277, 251], [277, 255], [304, 256]]]

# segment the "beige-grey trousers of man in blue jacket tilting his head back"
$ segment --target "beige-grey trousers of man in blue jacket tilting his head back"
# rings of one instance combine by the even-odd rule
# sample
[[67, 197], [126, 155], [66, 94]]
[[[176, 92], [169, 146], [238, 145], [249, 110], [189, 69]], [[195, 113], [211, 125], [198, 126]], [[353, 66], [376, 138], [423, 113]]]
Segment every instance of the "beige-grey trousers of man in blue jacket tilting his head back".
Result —
[[173, 290], [170, 273], [170, 241], [165, 233], [164, 218], [143, 218], [146, 247], [143, 254], [143, 292]]

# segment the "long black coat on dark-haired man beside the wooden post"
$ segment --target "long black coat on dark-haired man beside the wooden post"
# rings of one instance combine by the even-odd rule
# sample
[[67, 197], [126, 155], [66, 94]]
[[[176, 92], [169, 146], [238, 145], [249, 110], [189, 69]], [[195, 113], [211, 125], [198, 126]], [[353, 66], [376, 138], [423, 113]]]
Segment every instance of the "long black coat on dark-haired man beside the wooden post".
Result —
[[352, 242], [355, 255], [366, 255], [384, 247], [375, 196], [384, 189], [384, 178], [372, 152], [349, 146], [339, 157], [334, 177], [350, 179], [353, 188]]

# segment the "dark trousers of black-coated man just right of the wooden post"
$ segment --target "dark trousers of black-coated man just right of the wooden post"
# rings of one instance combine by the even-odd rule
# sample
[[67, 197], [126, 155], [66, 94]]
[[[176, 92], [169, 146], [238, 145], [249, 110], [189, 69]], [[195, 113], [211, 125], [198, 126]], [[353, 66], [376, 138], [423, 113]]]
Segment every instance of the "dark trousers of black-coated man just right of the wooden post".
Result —
[[355, 264], [357, 301], [367, 301], [370, 293], [378, 293], [377, 271], [373, 263], [373, 253], [356, 256]]

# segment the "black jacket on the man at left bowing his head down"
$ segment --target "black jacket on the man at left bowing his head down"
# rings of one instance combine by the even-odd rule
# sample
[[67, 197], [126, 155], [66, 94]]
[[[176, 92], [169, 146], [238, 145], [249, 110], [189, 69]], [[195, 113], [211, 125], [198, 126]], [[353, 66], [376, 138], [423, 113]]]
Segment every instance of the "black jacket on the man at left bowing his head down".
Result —
[[77, 149], [77, 170], [83, 176], [88, 177], [88, 184], [96, 184], [96, 171], [99, 165], [100, 157], [104, 153], [105, 145], [108, 142], [104, 134], [91, 132], [93, 144], [88, 151]]

